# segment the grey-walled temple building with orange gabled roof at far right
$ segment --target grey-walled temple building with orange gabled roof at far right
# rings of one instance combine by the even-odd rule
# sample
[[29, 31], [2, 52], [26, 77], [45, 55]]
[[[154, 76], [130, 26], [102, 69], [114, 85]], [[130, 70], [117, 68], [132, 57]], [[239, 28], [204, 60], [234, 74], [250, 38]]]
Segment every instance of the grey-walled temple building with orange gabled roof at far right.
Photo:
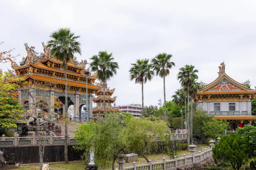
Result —
[[225, 64], [219, 66], [218, 77], [211, 83], [200, 82], [200, 90], [195, 96], [198, 107], [217, 120], [232, 123], [232, 129], [256, 122], [251, 113], [251, 99], [256, 90], [250, 88], [250, 81], [236, 82], [225, 73]]

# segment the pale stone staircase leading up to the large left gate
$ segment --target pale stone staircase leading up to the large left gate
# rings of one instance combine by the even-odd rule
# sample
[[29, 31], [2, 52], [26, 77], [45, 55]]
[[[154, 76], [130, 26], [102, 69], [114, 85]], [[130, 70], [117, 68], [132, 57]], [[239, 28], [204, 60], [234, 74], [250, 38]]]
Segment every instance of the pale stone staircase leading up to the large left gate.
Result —
[[[85, 124], [86, 122], [68, 122], [67, 123], [67, 133], [69, 136], [75, 136], [76, 127], [81, 124]], [[55, 125], [59, 125], [61, 127], [61, 136], [65, 136], [65, 123], [61, 121], [55, 121]]]

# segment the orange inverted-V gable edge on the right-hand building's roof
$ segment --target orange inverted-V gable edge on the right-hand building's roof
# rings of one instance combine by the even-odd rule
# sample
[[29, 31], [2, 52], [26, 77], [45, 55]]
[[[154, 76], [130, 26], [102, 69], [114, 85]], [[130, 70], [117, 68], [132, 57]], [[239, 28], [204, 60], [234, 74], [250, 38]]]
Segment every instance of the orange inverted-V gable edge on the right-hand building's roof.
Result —
[[217, 85], [222, 79], [226, 78], [227, 80], [230, 80], [232, 83], [234, 83], [235, 85], [237, 85], [239, 88], [244, 89], [244, 91], [251, 91], [251, 88], [247, 88], [244, 86], [244, 84], [236, 82], [236, 80], [232, 79], [231, 77], [229, 77], [227, 74], [222, 73], [220, 76], [217, 77], [217, 79], [215, 79], [213, 82], [209, 83], [206, 87], [200, 89], [200, 92], [204, 92], [206, 90], [208, 90], [209, 88], [214, 87], [215, 85]]

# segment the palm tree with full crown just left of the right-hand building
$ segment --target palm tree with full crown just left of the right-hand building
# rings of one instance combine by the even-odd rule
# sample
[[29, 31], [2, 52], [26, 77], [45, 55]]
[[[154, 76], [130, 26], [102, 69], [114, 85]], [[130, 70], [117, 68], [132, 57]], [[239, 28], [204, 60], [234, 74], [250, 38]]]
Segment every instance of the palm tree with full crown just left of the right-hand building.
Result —
[[[195, 69], [195, 66], [193, 65], [185, 65], [184, 67], [179, 69], [179, 73], [177, 74], [177, 79], [179, 80], [181, 86], [183, 88], [186, 88], [186, 91], [189, 91], [189, 88], [192, 85], [193, 81], [196, 81], [198, 79], [197, 73], [198, 70]], [[187, 125], [188, 125], [188, 144], [190, 144], [190, 134], [191, 134], [191, 124], [192, 119], [189, 121], [189, 93], [187, 94], [188, 99], [188, 116], [187, 116]], [[192, 117], [193, 118], [193, 117]]]

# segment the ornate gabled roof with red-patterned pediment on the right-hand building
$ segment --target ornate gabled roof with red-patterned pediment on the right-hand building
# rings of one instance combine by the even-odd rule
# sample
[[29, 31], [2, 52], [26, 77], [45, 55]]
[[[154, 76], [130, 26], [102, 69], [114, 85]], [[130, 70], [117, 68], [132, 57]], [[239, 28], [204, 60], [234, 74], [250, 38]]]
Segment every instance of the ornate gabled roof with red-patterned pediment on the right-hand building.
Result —
[[225, 64], [219, 66], [219, 76], [208, 85], [200, 82], [200, 90], [197, 95], [209, 94], [256, 94], [256, 90], [250, 88], [250, 81], [244, 83], [236, 82], [225, 73]]

